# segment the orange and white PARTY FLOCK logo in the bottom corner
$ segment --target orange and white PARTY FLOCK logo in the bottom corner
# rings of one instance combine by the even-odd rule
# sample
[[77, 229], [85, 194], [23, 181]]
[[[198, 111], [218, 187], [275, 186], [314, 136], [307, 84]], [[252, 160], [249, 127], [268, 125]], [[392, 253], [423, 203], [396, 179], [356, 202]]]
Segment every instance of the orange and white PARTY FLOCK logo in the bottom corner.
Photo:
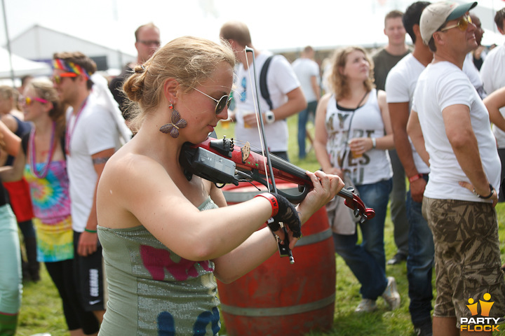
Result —
[[[491, 300], [490, 293], [485, 293], [483, 295], [483, 300], [479, 302], [473, 302], [473, 298], [469, 298], [469, 304], [466, 304], [469, 311], [471, 312], [470, 318], [462, 317], [459, 318], [459, 330], [460, 331], [499, 331], [498, 321], [499, 318], [489, 317], [490, 310], [494, 301]], [[478, 306], [480, 303], [480, 314], [478, 313]], [[480, 315], [480, 317], [473, 317]]]

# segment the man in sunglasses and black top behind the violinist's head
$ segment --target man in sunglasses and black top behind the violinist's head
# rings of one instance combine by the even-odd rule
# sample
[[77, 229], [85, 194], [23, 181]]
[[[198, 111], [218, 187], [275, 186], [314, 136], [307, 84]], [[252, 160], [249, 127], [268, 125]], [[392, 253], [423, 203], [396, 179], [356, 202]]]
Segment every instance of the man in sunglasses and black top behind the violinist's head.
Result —
[[[142, 25], [135, 30], [135, 48], [137, 49], [137, 62], [136, 64], [143, 64], [147, 59], [151, 58], [156, 50], [159, 49], [160, 31], [159, 28], [150, 22], [147, 25]], [[125, 120], [130, 118], [128, 113], [128, 99], [122, 94], [123, 83], [133, 73], [135, 63], [128, 63], [123, 67], [123, 71], [113, 78], [109, 84], [109, 90], [112, 92], [114, 99], [119, 104], [119, 109], [123, 113]]]

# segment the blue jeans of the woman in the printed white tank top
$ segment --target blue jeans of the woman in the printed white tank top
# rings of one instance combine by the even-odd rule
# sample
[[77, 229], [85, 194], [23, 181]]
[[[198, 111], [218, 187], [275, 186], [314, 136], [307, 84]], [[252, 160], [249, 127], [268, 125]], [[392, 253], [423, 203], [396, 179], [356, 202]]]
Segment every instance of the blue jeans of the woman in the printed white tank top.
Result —
[[[384, 253], [384, 221], [393, 181], [379, 181], [356, 186], [366, 207], [375, 210], [375, 217], [360, 224], [363, 241], [360, 245], [358, 232], [354, 235], [333, 233], [335, 251], [344, 259], [356, 279], [361, 283], [360, 293], [364, 299], [377, 300], [387, 286], [386, 256]], [[356, 228], [357, 229], [357, 228]]]

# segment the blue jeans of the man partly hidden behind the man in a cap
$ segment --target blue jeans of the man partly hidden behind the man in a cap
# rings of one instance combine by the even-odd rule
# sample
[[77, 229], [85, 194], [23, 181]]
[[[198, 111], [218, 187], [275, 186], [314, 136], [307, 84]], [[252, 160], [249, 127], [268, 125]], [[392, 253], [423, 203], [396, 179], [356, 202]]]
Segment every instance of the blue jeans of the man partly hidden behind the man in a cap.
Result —
[[[428, 176], [424, 179], [428, 181]], [[431, 274], [433, 272], [433, 235], [422, 216], [422, 202], [412, 200], [407, 193], [407, 216], [410, 225], [407, 257], [410, 318], [416, 326], [431, 323]]]

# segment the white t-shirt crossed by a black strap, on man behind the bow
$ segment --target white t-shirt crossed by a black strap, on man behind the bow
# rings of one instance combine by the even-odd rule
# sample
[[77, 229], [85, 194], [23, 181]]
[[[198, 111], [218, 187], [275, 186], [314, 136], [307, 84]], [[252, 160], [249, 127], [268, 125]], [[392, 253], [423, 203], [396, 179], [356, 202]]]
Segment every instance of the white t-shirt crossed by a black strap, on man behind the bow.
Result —
[[[264, 62], [270, 56], [268, 52], [262, 52], [257, 55], [255, 62], [257, 66], [256, 75], [260, 77]], [[252, 57], [252, 56], [250, 56]], [[248, 71], [251, 71], [249, 76]], [[256, 127], [245, 128], [243, 123], [243, 114], [255, 111], [256, 90], [253, 66], [244, 69], [243, 65], [238, 66], [236, 87], [234, 92], [235, 108], [235, 137], [240, 141], [249, 141], [251, 148], [260, 149], [261, 142]], [[252, 81], [252, 83], [251, 83]], [[286, 94], [299, 87], [299, 81], [293, 71], [291, 64], [282, 55], [275, 55], [267, 72], [267, 87], [270, 93], [270, 99], [274, 109], [285, 104], [288, 101]], [[260, 94], [260, 104], [262, 111], [270, 110], [267, 102]], [[283, 152], [288, 151], [288, 123], [285, 120], [276, 120], [274, 123], [264, 125], [269, 151]]]

